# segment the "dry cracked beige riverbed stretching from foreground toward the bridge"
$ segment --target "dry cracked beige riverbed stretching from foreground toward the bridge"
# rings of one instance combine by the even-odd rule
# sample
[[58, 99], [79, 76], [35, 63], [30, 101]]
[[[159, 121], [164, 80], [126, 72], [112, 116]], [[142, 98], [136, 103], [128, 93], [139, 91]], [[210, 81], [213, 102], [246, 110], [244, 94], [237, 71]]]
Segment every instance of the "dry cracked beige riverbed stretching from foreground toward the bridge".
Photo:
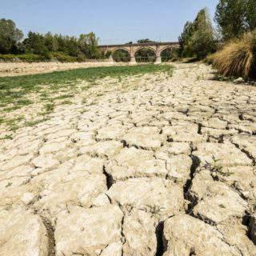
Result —
[[256, 255], [256, 87], [175, 68], [1, 142], [0, 255]]

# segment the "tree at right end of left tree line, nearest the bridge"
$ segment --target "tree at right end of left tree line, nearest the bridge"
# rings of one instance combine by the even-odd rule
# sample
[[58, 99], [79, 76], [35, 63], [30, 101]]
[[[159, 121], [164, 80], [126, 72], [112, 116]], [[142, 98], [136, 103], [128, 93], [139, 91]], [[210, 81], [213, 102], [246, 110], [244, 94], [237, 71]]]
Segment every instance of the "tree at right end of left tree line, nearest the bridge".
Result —
[[80, 50], [86, 55], [86, 58], [99, 58], [101, 51], [98, 48], [98, 38], [91, 32], [89, 34], [80, 34], [78, 39]]

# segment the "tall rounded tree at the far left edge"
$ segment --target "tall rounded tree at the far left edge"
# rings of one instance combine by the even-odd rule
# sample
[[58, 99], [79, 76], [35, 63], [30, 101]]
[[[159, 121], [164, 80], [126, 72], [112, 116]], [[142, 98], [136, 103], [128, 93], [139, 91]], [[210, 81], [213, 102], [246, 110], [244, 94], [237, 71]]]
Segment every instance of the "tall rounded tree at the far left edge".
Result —
[[13, 53], [18, 48], [18, 42], [23, 38], [22, 30], [10, 20], [0, 19], [0, 54]]

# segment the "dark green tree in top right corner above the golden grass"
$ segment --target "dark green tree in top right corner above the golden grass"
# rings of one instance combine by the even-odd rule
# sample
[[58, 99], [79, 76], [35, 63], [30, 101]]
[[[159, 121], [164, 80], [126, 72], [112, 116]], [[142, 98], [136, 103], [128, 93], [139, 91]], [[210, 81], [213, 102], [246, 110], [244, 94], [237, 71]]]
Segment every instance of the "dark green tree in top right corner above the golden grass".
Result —
[[[250, 0], [251, 4], [254, 5], [254, 1]], [[214, 19], [218, 23], [218, 28], [224, 40], [238, 37], [248, 29], [248, 23], [246, 22], [247, 3], [248, 0], [219, 1]], [[250, 17], [253, 18], [253, 15], [250, 15]]]

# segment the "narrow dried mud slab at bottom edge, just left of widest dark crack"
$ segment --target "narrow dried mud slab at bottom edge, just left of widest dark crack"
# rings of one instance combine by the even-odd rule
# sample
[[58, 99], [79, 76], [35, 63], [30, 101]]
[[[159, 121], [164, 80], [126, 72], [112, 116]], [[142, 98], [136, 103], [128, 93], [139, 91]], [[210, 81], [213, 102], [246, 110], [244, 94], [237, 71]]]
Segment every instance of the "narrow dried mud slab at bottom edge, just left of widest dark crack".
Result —
[[154, 218], [143, 210], [132, 210], [123, 223], [124, 256], [154, 256], [157, 250]]

